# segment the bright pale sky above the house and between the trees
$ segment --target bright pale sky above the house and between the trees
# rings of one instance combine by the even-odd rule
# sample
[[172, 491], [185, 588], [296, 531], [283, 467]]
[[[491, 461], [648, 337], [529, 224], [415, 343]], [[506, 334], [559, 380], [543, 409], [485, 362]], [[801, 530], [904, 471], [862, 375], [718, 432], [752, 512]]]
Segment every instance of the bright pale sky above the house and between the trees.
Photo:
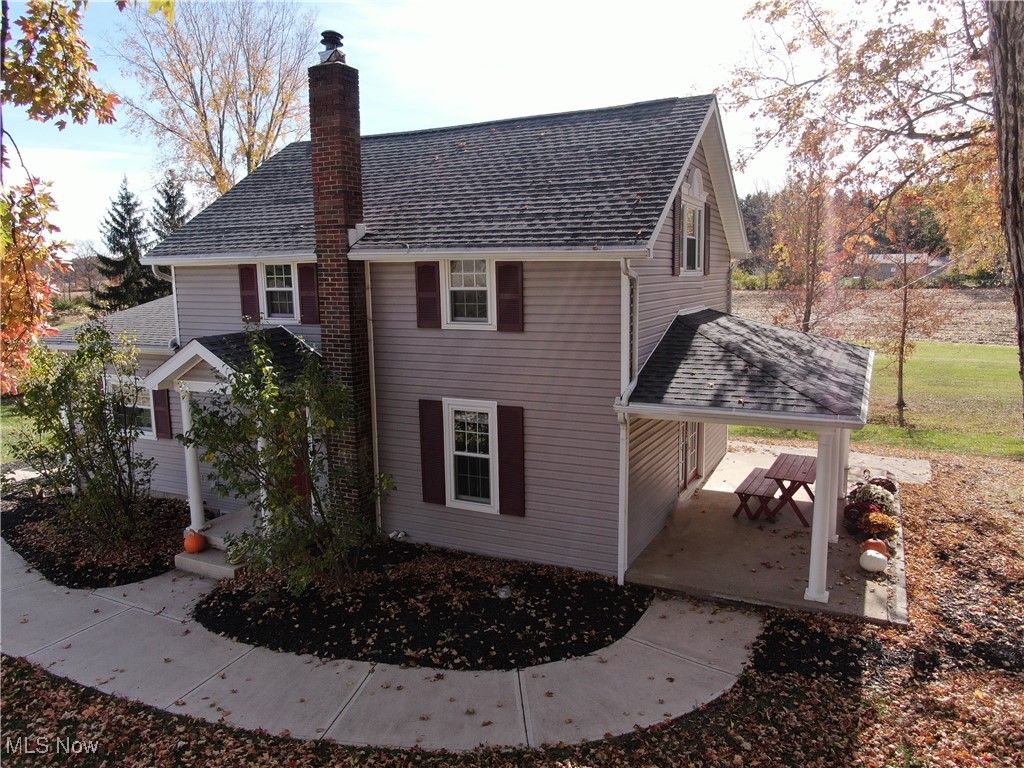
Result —
[[[337, 0], [310, 2], [319, 30], [340, 32], [359, 70], [364, 134], [462, 125], [710, 93], [752, 55], [750, 0]], [[24, 4], [12, 2], [16, 18]], [[111, 51], [123, 19], [113, 0], [91, 0], [85, 36], [96, 81], [132, 87]], [[309, 42], [310, 65], [318, 39]], [[5, 128], [29, 170], [53, 182], [63, 239], [100, 242], [99, 223], [122, 177], [145, 205], [163, 167], [154, 139], [123, 125], [58, 131], [4, 105]], [[735, 159], [751, 143], [744, 115], [726, 112]], [[735, 171], [740, 196], [778, 188], [780, 152]]]

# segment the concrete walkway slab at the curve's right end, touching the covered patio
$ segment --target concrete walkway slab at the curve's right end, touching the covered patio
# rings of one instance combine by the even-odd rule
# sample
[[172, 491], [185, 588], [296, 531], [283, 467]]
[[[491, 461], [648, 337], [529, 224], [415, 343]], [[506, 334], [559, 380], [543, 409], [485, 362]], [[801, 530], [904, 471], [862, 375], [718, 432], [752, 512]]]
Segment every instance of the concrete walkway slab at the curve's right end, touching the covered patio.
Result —
[[761, 617], [751, 610], [656, 599], [626, 637], [738, 675], [761, 629]]

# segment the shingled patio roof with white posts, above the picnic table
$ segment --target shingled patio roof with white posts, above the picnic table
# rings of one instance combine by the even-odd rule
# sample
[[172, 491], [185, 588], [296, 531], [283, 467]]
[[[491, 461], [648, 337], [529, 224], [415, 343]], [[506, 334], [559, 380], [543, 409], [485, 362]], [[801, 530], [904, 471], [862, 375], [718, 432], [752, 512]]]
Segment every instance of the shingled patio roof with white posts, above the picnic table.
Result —
[[[850, 430], [867, 422], [873, 358], [872, 350], [836, 339], [714, 309], [684, 311], [615, 411], [627, 430], [632, 418], [814, 430], [817, 481], [804, 599], [827, 602], [828, 545], [839, 542]], [[621, 505], [621, 531], [627, 516]]]

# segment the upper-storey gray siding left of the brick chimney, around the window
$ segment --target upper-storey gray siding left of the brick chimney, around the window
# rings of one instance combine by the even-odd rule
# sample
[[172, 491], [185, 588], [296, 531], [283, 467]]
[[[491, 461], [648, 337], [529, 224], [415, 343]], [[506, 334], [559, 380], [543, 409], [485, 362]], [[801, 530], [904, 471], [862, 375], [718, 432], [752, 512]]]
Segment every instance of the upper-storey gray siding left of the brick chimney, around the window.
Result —
[[[245, 330], [238, 264], [174, 267], [175, 309], [178, 313], [180, 344], [200, 336], [230, 334]], [[269, 325], [269, 324], [265, 324]], [[283, 324], [318, 349], [319, 326]]]

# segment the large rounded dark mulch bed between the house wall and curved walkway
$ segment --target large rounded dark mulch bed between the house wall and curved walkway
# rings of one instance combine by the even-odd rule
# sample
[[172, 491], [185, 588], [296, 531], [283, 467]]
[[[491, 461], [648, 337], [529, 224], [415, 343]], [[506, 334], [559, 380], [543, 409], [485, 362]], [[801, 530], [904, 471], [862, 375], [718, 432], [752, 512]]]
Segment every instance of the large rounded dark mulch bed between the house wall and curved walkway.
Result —
[[[499, 590], [511, 589], [502, 598]], [[268, 648], [446, 670], [511, 670], [581, 656], [625, 635], [648, 589], [569, 568], [387, 542], [342, 589], [296, 597], [243, 573], [207, 596], [207, 629]]]

